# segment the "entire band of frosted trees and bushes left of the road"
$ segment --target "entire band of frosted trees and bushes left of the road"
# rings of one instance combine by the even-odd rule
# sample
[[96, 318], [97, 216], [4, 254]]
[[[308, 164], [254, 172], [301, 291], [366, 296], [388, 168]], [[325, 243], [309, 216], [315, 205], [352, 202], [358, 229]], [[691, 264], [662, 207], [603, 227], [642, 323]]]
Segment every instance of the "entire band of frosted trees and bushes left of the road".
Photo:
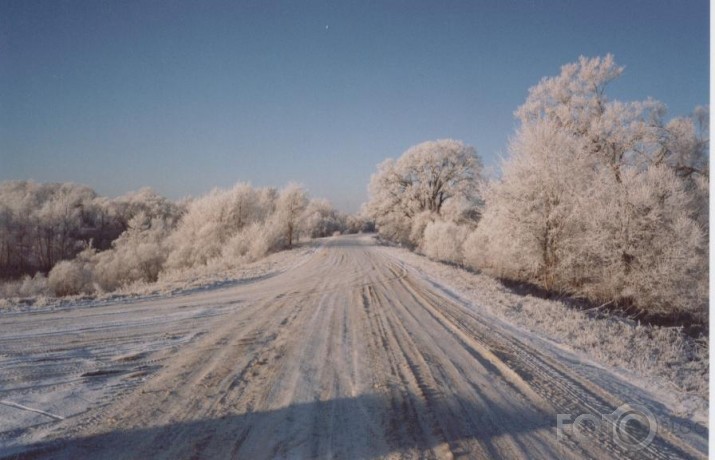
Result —
[[296, 184], [238, 183], [173, 202], [150, 189], [110, 199], [71, 183], [3, 182], [0, 293], [110, 292], [168, 272], [239, 266], [301, 238], [364, 230], [368, 223]]

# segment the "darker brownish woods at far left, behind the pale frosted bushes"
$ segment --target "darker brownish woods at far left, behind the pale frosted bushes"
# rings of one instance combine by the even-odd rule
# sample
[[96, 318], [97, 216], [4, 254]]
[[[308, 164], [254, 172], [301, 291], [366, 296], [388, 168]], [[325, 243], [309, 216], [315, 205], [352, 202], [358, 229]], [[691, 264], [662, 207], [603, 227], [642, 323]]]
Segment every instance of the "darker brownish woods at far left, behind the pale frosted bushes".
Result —
[[0, 279], [49, 272], [90, 245], [111, 247], [143, 212], [176, 218], [181, 209], [150, 189], [115, 199], [81, 185], [10, 181], [0, 184]]

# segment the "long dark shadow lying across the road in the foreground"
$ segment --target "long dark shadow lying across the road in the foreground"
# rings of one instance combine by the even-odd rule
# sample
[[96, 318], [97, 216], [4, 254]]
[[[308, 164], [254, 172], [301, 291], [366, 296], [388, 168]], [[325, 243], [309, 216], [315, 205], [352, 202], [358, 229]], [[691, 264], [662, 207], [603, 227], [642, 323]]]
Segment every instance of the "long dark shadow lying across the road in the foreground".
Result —
[[[492, 446], [494, 439], [553, 431], [554, 427], [551, 420], [498, 407], [479, 416], [480, 408], [464, 400], [431, 402], [431, 407], [422, 407], [425, 404], [417, 397], [396, 400], [378, 395], [296, 403], [269, 411], [41, 442], [5, 451], [2, 458], [414, 457], [439, 454], [442, 448], [444, 452], [448, 448], [452, 453], [473, 454], [470, 445], [474, 442], [484, 453], [499, 456], [503, 452]], [[480, 423], [463, 420], [444, 433], [440, 424], [418, 415], [439, 416], [455, 407], [477, 414]]]

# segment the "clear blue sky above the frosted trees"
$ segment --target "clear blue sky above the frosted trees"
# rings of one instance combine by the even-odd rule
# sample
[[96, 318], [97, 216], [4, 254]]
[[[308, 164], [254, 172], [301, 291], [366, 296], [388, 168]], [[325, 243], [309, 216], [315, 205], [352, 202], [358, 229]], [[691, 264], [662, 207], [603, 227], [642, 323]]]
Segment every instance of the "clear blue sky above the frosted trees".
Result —
[[528, 88], [579, 55], [610, 95], [709, 100], [707, 0], [0, 0], [0, 180], [171, 198], [306, 185], [356, 210], [375, 165], [451, 137], [496, 167]]

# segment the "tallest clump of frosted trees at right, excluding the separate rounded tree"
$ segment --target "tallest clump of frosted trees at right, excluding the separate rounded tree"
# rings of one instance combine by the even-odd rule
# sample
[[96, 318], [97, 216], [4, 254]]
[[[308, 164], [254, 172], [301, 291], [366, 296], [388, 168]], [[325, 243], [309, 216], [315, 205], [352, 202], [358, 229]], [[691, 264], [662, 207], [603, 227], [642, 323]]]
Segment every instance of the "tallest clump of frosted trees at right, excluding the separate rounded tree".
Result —
[[467, 262], [650, 311], [702, 311], [707, 139], [693, 119], [665, 123], [659, 102], [609, 100], [622, 70], [610, 55], [582, 57], [529, 90]]

